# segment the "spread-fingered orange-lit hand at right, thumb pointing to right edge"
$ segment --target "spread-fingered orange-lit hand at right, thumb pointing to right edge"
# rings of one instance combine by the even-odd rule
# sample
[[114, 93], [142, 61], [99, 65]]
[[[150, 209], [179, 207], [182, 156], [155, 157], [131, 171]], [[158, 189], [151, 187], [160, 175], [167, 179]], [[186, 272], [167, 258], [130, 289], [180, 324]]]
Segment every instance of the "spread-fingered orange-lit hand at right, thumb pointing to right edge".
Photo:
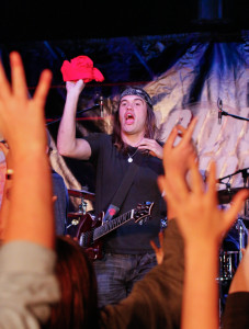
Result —
[[235, 195], [231, 207], [227, 211], [218, 208], [216, 193], [215, 163], [211, 163], [205, 191], [197, 162], [189, 162], [191, 172], [191, 190], [184, 178], [174, 175], [174, 188], [167, 178], [159, 179], [159, 186], [166, 191], [167, 201], [176, 213], [176, 217], [186, 245], [201, 246], [212, 243], [218, 246], [220, 238], [235, 222], [248, 191], [242, 190]]

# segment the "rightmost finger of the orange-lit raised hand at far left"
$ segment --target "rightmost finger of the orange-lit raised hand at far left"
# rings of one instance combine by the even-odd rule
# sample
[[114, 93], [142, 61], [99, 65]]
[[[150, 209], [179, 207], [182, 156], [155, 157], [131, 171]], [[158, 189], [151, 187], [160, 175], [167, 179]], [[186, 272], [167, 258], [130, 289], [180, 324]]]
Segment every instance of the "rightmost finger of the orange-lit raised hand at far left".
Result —
[[34, 101], [41, 107], [45, 106], [46, 98], [50, 88], [52, 72], [49, 70], [44, 70], [41, 73], [38, 86], [34, 93]]

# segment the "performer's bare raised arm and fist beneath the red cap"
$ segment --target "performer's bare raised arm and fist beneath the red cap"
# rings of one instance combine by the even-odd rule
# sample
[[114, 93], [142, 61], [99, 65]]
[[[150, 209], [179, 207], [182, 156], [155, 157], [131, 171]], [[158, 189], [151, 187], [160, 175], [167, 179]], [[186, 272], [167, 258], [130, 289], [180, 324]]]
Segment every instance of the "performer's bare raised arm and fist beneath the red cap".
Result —
[[61, 156], [88, 160], [91, 156], [90, 145], [84, 139], [76, 138], [76, 111], [83, 87], [83, 80], [66, 82], [67, 98], [57, 136], [57, 148]]

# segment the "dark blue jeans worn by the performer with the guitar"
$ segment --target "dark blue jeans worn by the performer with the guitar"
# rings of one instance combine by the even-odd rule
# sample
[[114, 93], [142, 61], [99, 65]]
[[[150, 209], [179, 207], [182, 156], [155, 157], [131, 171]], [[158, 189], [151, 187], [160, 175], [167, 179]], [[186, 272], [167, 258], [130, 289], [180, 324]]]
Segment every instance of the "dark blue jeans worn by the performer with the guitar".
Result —
[[142, 280], [156, 264], [155, 253], [105, 253], [102, 260], [94, 261], [99, 307], [127, 297], [134, 283]]

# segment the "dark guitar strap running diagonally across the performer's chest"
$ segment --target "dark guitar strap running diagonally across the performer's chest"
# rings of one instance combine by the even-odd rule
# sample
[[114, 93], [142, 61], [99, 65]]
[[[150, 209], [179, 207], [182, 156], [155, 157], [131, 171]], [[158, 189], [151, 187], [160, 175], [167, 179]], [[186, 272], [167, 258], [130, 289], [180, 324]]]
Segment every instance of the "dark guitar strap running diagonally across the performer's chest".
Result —
[[104, 218], [103, 223], [109, 222], [115, 216], [118, 212], [120, 208], [125, 200], [125, 196], [128, 193], [129, 188], [132, 186], [132, 183], [134, 181], [134, 178], [138, 171], [139, 164], [142, 163], [143, 160], [143, 155], [140, 152], [137, 152], [136, 161], [133, 161], [129, 164], [128, 170], [126, 171], [126, 174], [124, 175], [120, 188], [117, 189], [112, 203], [110, 204]]

